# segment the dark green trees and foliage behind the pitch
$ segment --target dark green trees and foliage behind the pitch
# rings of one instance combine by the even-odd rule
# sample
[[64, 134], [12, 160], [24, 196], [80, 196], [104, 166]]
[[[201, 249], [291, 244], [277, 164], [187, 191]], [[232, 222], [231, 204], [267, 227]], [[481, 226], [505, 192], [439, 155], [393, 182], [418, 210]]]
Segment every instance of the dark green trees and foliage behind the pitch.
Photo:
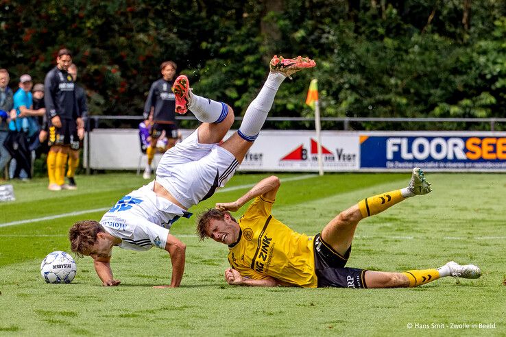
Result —
[[72, 49], [92, 114], [141, 114], [171, 59], [195, 92], [240, 115], [277, 53], [311, 56], [317, 68], [280, 88], [272, 116], [312, 116], [313, 77], [322, 116], [506, 115], [501, 0], [471, 1], [468, 12], [462, 0], [18, 0], [3, 2], [0, 29], [12, 86], [25, 72], [42, 81], [56, 51]]

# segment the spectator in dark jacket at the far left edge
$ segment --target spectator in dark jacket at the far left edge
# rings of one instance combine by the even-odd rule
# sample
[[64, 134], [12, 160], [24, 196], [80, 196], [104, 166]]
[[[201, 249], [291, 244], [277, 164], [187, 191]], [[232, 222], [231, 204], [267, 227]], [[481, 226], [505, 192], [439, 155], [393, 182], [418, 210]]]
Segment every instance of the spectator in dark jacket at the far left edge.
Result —
[[10, 153], [3, 147], [3, 142], [8, 136], [8, 123], [10, 121], [10, 110], [12, 109], [13, 92], [9, 88], [9, 72], [7, 69], [0, 69], [0, 179], [3, 177], [3, 168], [10, 160]]

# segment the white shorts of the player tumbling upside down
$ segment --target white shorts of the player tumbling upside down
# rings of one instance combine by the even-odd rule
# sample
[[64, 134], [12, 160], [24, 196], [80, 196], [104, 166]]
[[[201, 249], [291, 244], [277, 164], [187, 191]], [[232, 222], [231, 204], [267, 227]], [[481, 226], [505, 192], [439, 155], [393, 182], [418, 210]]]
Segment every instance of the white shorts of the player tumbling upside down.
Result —
[[197, 134], [193, 132], [165, 152], [156, 168], [156, 182], [185, 208], [225, 186], [239, 166], [232, 153], [217, 144], [201, 144]]

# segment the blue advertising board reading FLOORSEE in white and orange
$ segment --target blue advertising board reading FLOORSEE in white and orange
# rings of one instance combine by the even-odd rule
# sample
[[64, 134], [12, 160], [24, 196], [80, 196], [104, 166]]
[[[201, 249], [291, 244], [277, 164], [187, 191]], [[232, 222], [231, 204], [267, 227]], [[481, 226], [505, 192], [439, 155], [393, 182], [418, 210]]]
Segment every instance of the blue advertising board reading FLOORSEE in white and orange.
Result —
[[506, 171], [506, 133], [422, 132], [360, 135], [362, 168]]

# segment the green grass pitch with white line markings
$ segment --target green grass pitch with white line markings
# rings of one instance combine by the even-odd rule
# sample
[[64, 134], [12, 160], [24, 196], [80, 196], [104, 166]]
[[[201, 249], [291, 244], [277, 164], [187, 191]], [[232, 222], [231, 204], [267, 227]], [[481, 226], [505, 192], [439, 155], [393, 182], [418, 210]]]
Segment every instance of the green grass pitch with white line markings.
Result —
[[[191, 211], [232, 201], [261, 177], [238, 174], [228, 191]], [[409, 180], [406, 173], [280, 177], [274, 216], [307, 234], [339, 210]], [[45, 179], [16, 182], [16, 201], [0, 204], [0, 336], [506, 336], [506, 175], [427, 177], [430, 195], [361, 222], [348, 266], [405, 271], [455, 260], [479, 265], [480, 279], [446, 277], [387, 290], [228, 286], [227, 247], [199, 242], [193, 217], [171, 229], [187, 245], [180, 288], [152, 288], [170, 275], [168, 254], [156, 248], [114, 249], [118, 287], [100, 286], [91, 258], [76, 260], [72, 284], [45, 284], [40, 261], [51, 251], [69, 251], [72, 223], [99, 220], [103, 211], [26, 220], [110, 208], [144, 182], [130, 173], [79, 176], [79, 190], [62, 192], [47, 191]]]

